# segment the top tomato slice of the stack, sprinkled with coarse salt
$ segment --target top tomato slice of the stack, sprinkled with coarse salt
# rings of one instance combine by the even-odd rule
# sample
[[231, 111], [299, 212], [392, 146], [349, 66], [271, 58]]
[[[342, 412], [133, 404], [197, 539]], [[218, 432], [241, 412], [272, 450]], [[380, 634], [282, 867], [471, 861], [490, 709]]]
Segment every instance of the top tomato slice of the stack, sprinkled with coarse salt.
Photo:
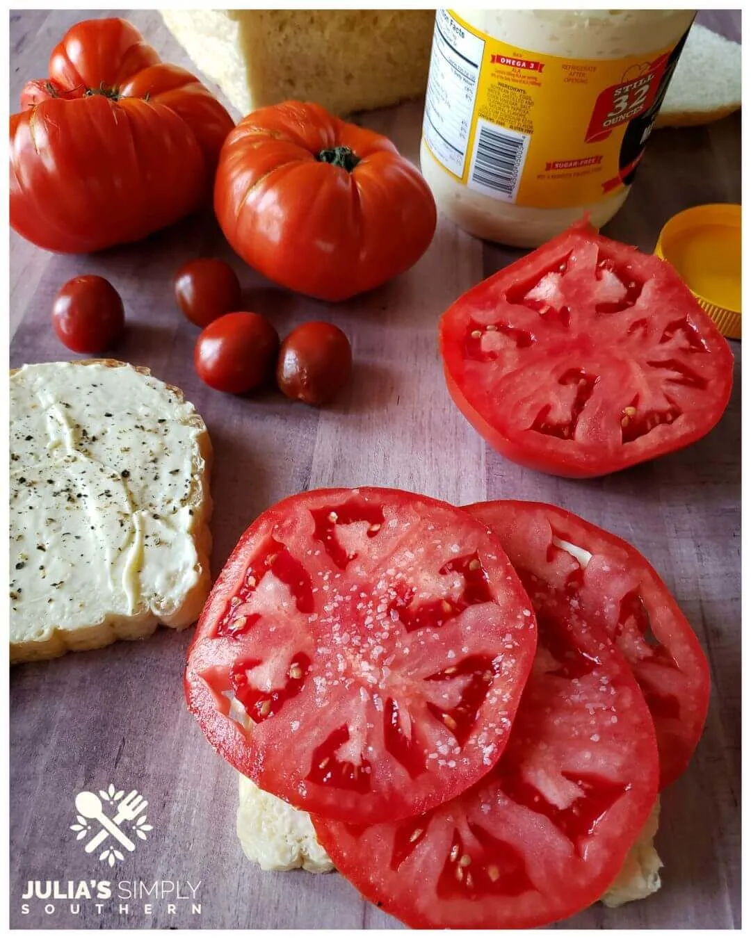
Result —
[[211, 744], [262, 789], [373, 822], [445, 802], [493, 766], [535, 643], [485, 525], [423, 496], [323, 489], [243, 534], [185, 688]]

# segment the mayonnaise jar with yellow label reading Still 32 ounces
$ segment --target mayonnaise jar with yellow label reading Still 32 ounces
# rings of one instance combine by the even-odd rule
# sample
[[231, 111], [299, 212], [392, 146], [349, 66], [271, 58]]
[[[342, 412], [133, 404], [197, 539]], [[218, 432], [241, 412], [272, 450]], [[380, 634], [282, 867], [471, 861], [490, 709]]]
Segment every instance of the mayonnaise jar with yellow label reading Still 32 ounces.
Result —
[[694, 10], [439, 9], [420, 166], [478, 238], [533, 248], [631, 188]]

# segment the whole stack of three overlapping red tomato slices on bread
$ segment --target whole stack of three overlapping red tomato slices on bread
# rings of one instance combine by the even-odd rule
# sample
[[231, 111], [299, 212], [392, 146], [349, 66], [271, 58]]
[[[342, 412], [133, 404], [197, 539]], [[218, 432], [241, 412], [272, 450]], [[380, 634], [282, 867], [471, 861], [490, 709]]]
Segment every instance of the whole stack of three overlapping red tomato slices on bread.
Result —
[[310, 812], [368, 900], [415, 928], [524, 928], [616, 879], [709, 677], [613, 535], [540, 503], [360, 488], [258, 517], [185, 686], [211, 744]]

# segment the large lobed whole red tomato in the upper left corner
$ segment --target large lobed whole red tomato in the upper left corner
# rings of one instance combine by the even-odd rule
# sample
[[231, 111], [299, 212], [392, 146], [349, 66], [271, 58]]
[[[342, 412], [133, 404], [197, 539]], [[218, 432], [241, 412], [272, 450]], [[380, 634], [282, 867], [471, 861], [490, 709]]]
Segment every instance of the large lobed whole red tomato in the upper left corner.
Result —
[[10, 116], [10, 224], [50, 251], [145, 238], [211, 189], [232, 118], [125, 20], [73, 26]]

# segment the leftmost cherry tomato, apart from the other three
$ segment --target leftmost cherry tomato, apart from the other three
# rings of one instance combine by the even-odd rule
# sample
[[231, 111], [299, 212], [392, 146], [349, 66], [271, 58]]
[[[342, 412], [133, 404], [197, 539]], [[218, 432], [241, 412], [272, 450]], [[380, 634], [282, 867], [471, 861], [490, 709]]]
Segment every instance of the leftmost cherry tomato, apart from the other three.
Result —
[[57, 338], [73, 352], [102, 352], [125, 329], [117, 290], [96, 274], [73, 277], [55, 297], [52, 321]]

